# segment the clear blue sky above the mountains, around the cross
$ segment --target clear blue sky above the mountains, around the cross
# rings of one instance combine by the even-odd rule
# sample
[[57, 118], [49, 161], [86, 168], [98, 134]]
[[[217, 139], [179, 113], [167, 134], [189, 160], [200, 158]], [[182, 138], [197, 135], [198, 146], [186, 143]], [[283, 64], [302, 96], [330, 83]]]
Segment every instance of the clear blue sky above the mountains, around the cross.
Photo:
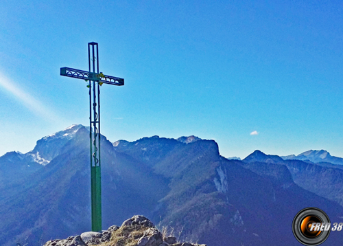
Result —
[[[44, 2], [44, 3], [43, 3]], [[225, 157], [343, 157], [342, 1], [1, 1], [0, 155], [88, 125], [99, 43], [102, 134], [215, 139]], [[255, 134], [254, 134], [255, 133]]]

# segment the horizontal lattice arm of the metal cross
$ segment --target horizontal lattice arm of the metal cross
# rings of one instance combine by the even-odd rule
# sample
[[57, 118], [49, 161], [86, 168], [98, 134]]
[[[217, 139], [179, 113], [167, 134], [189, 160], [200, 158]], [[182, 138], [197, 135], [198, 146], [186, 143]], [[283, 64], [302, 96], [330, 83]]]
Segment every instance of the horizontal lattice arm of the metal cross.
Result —
[[102, 82], [108, 85], [124, 85], [123, 78], [108, 76], [102, 73], [100, 74], [90, 73], [89, 71], [73, 69], [70, 67], [61, 67], [60, 75], [71, 77], [71, 78], [80, 78], [82, 80], [94, 80], [94, 81]]

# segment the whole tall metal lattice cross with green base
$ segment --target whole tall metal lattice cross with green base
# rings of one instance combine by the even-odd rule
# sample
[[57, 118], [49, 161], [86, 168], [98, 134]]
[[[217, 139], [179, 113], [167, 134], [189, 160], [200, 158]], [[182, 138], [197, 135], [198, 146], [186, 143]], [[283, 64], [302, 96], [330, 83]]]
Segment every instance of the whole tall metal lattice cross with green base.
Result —
[[[124, 85], [123, 78], [106, 76], [99, 72], [97, 43], [88, 43], [88, 71], [61, 67], [60, 75], [89, 82], [89, 137], [91, 142], [91, 205], [92, 231], [102, 231], [102, 184], [100, 161], [100, 86]], [[93, 112], [93, 113], [92, 113]]]

